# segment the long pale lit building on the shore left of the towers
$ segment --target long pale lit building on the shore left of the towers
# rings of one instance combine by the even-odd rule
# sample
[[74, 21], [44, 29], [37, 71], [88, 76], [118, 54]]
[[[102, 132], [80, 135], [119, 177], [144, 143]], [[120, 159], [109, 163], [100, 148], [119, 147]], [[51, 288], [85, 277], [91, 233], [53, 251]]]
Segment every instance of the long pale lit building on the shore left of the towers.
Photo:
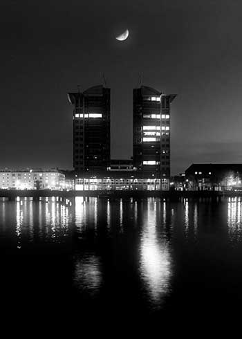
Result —
[[0, 188], [5, 190], [62, 190], [65, 176], [58, 170], [1, 170]]

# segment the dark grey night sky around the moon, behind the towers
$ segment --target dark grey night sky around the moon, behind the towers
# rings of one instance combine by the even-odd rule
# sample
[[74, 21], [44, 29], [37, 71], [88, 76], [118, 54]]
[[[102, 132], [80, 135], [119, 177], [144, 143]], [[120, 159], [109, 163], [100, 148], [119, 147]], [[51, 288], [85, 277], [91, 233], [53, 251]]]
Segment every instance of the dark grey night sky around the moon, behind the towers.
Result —
[[[242, 162], [242, 2], [1, 0], [0, 167], [72, 168], [66, 92], [111, 88], [111, 156], [132, 156], [132, 92], [177, 93], [171, 172]], [[129, 39], [115, 36], [129, 28]]]

